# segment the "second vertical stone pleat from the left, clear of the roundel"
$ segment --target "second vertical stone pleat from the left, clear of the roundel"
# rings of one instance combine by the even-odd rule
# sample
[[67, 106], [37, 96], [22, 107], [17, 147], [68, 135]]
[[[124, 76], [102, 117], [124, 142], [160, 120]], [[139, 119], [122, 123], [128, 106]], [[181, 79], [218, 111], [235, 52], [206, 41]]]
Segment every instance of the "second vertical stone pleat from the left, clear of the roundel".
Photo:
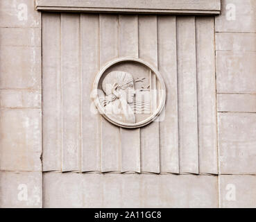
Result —
[[61, 15], [62, 171], [79, 171], [80, 15]]

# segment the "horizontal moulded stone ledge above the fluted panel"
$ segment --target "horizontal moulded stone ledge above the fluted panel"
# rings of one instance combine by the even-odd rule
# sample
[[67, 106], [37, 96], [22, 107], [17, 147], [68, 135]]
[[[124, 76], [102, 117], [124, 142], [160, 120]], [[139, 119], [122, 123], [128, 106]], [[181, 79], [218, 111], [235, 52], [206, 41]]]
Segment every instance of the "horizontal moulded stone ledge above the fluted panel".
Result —
[[219, 15], [221, 0], [36, 0], [36, 10], [171, 15]]

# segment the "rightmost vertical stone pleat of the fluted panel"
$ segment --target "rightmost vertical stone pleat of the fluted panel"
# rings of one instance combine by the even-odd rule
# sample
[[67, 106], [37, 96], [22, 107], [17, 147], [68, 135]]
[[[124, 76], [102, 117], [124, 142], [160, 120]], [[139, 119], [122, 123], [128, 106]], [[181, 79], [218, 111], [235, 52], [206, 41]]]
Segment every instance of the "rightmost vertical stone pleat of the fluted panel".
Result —
[[214, 18], [196, 18], [198, 150], [200, 173], [218, 173]]

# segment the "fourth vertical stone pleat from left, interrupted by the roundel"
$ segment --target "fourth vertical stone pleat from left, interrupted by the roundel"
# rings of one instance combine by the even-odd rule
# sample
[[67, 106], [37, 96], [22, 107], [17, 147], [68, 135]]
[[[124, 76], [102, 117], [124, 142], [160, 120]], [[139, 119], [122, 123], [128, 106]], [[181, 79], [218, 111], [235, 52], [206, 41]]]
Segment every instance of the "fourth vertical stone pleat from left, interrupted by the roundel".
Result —
[[[119, 57], [118, 16], [100, 14], [101, 68]], [[120, 129], [101, 117], [101, 171], [120, 171]]]

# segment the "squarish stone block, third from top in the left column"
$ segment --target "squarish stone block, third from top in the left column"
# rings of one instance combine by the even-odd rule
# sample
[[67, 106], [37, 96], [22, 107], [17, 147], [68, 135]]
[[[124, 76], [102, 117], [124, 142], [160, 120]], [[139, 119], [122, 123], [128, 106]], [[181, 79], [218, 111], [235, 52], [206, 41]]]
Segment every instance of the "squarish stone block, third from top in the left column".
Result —
[[0, 47], [0, 88], [41, 89], [41, 49], [39, 47]]

